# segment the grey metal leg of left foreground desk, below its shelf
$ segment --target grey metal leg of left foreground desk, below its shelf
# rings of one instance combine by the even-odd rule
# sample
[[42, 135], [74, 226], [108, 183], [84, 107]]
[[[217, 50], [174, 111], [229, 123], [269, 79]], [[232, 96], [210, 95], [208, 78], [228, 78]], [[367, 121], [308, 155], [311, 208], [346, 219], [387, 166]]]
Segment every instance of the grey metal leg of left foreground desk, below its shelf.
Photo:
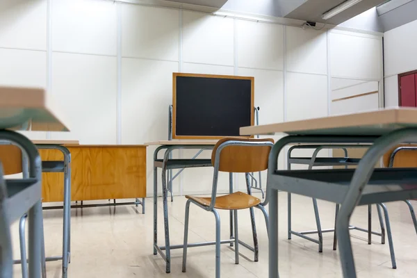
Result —
[[29, 277], [40, 278], [42, 254], [42, 204], [39, 201], [28, 211], [29, 220]]

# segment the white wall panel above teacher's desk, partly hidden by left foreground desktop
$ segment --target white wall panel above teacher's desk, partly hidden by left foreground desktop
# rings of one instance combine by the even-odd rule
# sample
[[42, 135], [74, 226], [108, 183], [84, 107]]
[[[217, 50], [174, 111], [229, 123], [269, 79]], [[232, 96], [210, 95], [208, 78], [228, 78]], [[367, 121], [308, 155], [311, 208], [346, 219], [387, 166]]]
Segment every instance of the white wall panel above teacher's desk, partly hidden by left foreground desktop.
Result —
[[115, 144], [116, 58], [54, 53], [52, 62], [52, 93], [71, 121], [71, 131], [53, 132], [51, 138]]

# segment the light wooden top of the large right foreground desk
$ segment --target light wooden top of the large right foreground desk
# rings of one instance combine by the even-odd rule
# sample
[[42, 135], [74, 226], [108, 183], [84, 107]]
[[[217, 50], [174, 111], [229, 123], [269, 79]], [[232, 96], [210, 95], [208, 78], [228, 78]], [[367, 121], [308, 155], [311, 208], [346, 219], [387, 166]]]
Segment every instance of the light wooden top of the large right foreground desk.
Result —
[[395, 129], [417, 127], [416, 108], [386, 108], [377, 111], [320, 117], [279, 124], [244, 126], [240, 135], [334, 135], [334, 136], [382, 136]]

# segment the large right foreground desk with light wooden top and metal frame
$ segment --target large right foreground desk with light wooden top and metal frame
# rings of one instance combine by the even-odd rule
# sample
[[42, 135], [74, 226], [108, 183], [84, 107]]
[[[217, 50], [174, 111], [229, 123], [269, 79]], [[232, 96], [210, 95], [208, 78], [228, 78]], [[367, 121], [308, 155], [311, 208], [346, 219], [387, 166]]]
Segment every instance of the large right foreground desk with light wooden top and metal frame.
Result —
[[[356, 277], [349, 221], [355, 206], [378, 204], [384, 208], [386, 228], [389, 218], [382, 202], [393, 202], [417, 197], [417, 169], [382, 168], [377, 163], [391, 147], [417, 138], [417, 109], [391, 108], [366, 113], [338, 115], [311, 120], [246, 126], [241, 135], [287, 133], [275, 143], [268, 165], [267, 195], [269, 203], [269, 277], [277, 278], [278, 269], [278, 198], [279, 190], [325, 199], [342, 204], [336, 221], [343, 277]], [[291, 144], [361, 144], [373, 143], [361, 158], [356, 169], [277, 170], [279, 152]], [[410, 188], [410, 185], [414, 185]], [[390, 240], [391, 263], [395, 256]]]

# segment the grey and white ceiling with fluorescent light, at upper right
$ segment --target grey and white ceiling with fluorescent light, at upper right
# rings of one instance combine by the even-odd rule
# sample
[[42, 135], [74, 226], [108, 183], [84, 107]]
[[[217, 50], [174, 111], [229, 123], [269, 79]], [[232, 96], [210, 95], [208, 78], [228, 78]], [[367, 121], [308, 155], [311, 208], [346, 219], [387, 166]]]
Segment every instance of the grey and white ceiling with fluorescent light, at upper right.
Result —
[[[1, 0], [0, 0], [1, 1]], [[417, 0], [391, 0], [383, 6], [395, 6], [384, 14], [371, 8], [386, 0], [362, 0], [334, 17], [322, 19], [322, 14], [338, 6], [345, 0], [169, 0], [206, 6], [237, 13], [286, 17], [309, 22], [321, 22], [384, 32], [417, 19]], [[382, 8], [379, 6], [378, 8]]]

